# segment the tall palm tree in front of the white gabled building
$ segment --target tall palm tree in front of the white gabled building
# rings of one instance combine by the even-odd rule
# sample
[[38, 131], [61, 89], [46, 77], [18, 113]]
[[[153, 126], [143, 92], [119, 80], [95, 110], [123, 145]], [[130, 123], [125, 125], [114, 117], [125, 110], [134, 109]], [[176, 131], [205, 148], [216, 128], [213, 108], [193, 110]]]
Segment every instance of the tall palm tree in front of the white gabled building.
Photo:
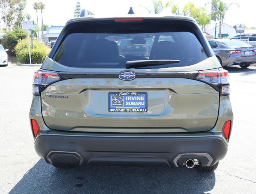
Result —
[[227, 4], [222, 2], [222, 0], [212, 0], [211, 3], [213, 8], [211, 18], [213, 18], [214, 20], [218, 20], [220, 25], [219, 38], [221, 38], [221, 25], [223, 24], [226, 12], [231, 5], [236, 4], [238, 7], [239, 5], [237, 3]]

